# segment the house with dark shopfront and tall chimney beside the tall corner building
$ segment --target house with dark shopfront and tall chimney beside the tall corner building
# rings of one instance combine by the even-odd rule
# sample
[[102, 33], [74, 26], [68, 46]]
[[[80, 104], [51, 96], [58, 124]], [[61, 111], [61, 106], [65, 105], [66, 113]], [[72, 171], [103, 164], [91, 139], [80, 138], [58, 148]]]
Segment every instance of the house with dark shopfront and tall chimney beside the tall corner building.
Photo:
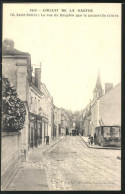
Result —
[[35, 77], [29, 82], [29, 149], [39, 147], [43, 142], [44, 130], [42, 131], [42, 97], [41, 92], [41, 68], [35, 69]]

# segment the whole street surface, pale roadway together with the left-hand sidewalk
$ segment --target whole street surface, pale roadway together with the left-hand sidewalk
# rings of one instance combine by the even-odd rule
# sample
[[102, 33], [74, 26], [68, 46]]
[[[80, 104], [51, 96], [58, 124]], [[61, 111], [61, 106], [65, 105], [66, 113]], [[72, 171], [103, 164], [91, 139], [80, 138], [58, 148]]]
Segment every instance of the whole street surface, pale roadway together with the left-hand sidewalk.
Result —
[[88, 148], [80, 136], [66, 136], [33, 150], [6, 190], [120, 190], [120, 152]]

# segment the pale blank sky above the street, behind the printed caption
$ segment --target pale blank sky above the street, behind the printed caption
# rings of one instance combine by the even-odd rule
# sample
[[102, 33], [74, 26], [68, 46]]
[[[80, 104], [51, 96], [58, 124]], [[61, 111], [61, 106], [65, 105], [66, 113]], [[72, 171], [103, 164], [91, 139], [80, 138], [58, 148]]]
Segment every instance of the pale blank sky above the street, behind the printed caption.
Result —
[[[105, 14], [108, 17], [17, 16], [43, 9], [66, 9], [66, 14]], [[37, 9], [32, 12], [30, 9]], [[93, 12], [78, 13], [78, 9]], [[11, 16], [12, 14], [15, 16]], [[40, 14], [44, 14], [40, 11]], [[111, 17], [112, 15], [112, 17]], [[114, 15], [118, 15], [115, 17]], [[41, 81], [57, 107], [81, 110], [93, 99], [100, 70], [102, 87], [121, 80], [120, 4], [7, 4], [3, 5], [3, 39], [31, 54], [31, 63], [42, 63]]]

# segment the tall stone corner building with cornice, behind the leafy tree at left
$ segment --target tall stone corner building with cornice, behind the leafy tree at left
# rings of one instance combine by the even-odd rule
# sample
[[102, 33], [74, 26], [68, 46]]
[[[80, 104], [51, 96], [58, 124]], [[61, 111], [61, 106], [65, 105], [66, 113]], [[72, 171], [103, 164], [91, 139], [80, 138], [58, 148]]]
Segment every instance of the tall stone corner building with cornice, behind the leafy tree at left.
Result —
[[[5, 39], [2, 48], [2, 73], [8, 78], [18, 97], [25, 103], [26, 117], [24, 128], [21, 130], [21, 150], [28, 153], [28, 130], [29, 130], [29, 82], [31, 81], [31, 56], [29, 53], [14, 48], [14, 42]], [[22, 87], [23, 86], [23, 87]]]

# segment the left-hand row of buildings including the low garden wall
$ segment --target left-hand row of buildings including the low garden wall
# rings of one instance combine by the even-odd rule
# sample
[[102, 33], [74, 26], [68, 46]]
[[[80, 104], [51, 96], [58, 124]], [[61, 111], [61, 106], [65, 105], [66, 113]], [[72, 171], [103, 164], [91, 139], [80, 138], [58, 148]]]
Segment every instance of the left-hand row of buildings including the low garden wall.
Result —
[[53, 103], [46, 85], [41, 83], [41, 64], [32, 66], [31, 55], [14, 48], [14, 42], [5, 39], [2, 48], [2, 74], [8, 78], [18, 97], [25, 103], [25, 124], [21, 132], [2, 132], [2, 187], [6, 187], [21, 159], [28, 152], [49, 140], [65, 135], [68, 116], [63, 108]]

